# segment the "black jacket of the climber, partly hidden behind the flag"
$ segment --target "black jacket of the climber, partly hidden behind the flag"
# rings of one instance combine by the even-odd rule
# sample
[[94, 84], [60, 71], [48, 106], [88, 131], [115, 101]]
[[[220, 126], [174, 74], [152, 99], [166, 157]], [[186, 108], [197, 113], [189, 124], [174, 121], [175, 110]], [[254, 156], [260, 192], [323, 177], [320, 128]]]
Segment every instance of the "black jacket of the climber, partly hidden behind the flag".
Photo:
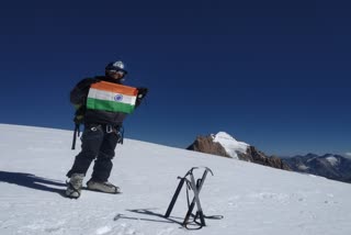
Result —
[[[116, 80], [109, 79], [107, 77], [104, 77], [104, 76], [97, 76], [94, 78], [82, 79], [71, 90], [70, 102], [75, 105], [82, 105], [80, 109], [84, 109], [90, 86], [99, 81], [109, 81], [113, 83], [120, 83], [120, 82], [116, 82]], [[137, 104], [139, 103], [140, 103], [140, 100], [137, 101]], [[122, 113], [122, 112], [109, 112], [109, 111], [102, 111], [102, 110], [84, 109], [83, 122], [84, 124], [110, 124], [113, 126], [117, 126], [117, 125], [121, 126], [126, 116], [127, 116], [127, 113]]]

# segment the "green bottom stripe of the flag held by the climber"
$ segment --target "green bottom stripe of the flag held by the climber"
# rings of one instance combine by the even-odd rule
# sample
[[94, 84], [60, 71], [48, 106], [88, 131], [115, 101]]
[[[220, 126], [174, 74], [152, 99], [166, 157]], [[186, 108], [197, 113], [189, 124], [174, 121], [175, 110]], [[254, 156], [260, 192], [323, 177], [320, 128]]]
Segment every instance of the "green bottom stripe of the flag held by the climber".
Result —
[[104, 110], [110, 112], [132, 113], [134, 111], [134, 105], [121, 103], [116, 101], [98, 100], [98, 99], [88, 98], [87, 109]]

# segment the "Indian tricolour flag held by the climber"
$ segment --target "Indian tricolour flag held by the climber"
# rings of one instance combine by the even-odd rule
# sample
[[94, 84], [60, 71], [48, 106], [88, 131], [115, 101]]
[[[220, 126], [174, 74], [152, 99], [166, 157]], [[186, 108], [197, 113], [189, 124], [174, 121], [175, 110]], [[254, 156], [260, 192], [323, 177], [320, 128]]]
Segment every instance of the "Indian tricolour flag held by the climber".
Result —
[[90, 86], [87, 109], [132, 113], [137, 93], [133, 87], [100, 81]]

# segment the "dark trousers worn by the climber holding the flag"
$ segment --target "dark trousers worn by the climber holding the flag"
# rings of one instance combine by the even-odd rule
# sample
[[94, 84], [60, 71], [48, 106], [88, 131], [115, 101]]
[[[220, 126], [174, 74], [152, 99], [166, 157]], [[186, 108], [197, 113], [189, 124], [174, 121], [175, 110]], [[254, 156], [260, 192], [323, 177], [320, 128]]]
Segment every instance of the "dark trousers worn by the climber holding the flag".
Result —
[[105, 125], [86, 125], [81, 137], [81, 152], [76, 156], [67, 177], [70, 178], [72, 174], [86, 176], [91, 161], [95, 159], [91, 178], [95, 181], [107, 181], [113, 166], [114, 149], [120, 137], [115, 128], [107, 133]]

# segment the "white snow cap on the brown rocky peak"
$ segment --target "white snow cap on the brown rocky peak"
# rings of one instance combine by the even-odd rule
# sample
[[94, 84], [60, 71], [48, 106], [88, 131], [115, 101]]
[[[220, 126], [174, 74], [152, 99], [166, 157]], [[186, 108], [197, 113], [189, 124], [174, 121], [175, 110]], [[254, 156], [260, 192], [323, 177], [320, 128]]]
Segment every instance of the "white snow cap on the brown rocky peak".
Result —
[[218, 132], [216, 135], [212, 135], [213, 142], [219, 143], [227, 154], [235, 159], [239, 159], [237, 153], [246, 154], [249, 145], [244, 142], [238, 142], [233, 136], [225, 132]]

